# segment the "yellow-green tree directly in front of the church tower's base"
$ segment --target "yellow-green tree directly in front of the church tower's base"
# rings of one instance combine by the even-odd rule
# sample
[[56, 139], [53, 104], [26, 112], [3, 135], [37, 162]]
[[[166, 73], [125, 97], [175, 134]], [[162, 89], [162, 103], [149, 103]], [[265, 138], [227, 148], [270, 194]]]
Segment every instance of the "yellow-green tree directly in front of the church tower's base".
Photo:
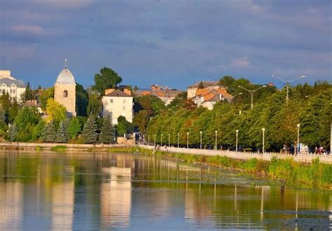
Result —
[[46, 114], [46, 121], [54, 121], [55, 124], [60, 124], [61, 121], [67, 118], [67, 109], [53, 98], [49, 98], [46, 105]]

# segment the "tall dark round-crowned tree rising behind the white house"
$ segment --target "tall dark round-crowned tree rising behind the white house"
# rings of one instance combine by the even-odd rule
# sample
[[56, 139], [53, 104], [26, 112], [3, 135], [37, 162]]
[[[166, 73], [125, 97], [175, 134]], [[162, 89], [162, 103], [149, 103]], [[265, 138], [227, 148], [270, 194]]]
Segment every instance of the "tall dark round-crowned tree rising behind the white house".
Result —
[[92, 89], [97, 91], [100, 95], [104, 95], [105, 90], [114, 88], [122, 81], [118, 73], [111, 70], [109, 67], [103, 67], [100, 73], [95, 74], [95, 85]]

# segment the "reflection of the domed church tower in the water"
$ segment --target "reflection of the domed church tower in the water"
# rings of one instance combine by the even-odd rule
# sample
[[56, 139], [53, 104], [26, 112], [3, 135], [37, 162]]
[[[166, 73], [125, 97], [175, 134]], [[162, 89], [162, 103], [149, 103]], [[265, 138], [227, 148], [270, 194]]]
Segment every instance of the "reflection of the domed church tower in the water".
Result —
[[[72, 169], [71, 171], [74, 171]], [[74, 213], [74, 180], [52, 187], [52, 230], [71, 230]]]

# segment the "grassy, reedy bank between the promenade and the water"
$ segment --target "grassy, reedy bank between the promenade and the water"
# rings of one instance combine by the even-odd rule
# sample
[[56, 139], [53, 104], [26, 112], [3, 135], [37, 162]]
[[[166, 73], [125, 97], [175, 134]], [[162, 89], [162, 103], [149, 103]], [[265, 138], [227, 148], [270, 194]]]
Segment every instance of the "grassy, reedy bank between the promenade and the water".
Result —
[[313, 159], [312, 163], [304, 164], [291, 158], [277, 159], [277, 157], [272, 157], [270, 161], [251, 158], [244, 161], [221, 156], [155, 151], [143, 147], [112, 147], [107, 151], [139, 152], [155, 157], [179, 159], [186, 163], [207, 164], [209, 166], [242, 171], [255, 177], [280, 180], [287, 186], [332, 190], [332, 166], [331, 164], [319, 163], [319, 159]]

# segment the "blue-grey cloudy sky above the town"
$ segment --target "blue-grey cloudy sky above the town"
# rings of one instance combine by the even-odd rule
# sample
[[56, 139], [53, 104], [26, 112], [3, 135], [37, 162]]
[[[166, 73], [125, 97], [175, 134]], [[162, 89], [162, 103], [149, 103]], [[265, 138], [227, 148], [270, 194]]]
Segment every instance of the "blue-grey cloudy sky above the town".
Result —
[[332, 1], [1, 0], [0, 69], [34, 88], [52, 86], [65, 58], [85, 87], [102, 67], [140, 88], [225, 75], [313, 84], [332, 79], [331, 30]]

